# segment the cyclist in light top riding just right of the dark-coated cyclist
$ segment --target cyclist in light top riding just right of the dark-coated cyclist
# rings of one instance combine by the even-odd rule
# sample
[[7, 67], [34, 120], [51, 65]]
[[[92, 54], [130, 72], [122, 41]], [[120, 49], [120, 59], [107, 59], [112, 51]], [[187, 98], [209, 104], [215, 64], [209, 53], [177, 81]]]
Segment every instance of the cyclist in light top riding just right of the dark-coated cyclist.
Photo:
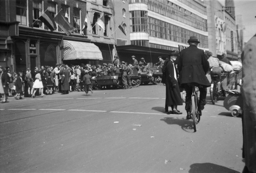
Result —
[[209, 74], [211, 75], [211, 92], [213, 92], [213, 76], [218, 76], [217, 82], [218, 82], [218, 88], [220, 89], [220, 81], [221, 81], [221, 72], [224, 72], [223, 67], [221, 66], [220, 60], [218, 58], [213, 57], [212, 52], [207, 53], [208, 62], [209, 62]]

